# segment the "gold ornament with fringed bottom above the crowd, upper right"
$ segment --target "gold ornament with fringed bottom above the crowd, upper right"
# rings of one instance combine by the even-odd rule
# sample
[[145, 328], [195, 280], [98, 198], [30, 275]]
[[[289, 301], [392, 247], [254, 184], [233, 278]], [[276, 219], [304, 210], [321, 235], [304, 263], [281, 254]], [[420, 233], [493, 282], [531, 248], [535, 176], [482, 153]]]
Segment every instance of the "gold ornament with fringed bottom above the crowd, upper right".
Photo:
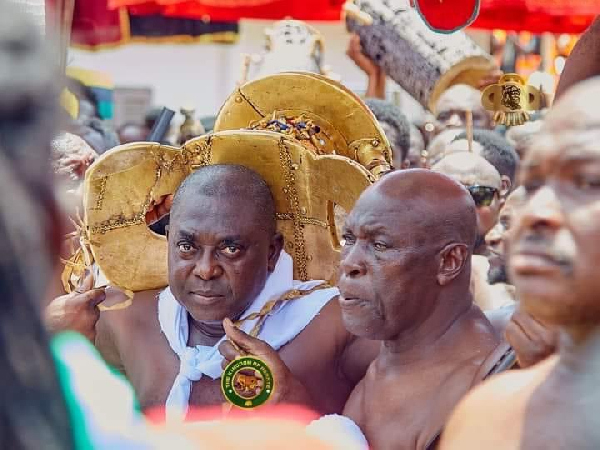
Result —
[[529, 111], [540, 109], [542, 95], [515, 73], [505, 74], [498, 84], [487, 87], [481, 95], [485, 109], [494, 111], [496, 125], [523, 125], [529, 120]]

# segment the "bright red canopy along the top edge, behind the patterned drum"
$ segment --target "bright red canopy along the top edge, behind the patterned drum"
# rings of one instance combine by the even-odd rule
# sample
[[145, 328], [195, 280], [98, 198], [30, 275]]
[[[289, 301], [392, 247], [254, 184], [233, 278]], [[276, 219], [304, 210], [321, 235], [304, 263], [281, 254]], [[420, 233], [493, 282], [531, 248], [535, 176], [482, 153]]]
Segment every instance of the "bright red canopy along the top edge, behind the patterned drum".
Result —
[[[446, 0], [461, 2], [462, 0]], [[112, 8], [130, 14], [238, 21], [291, 17], [340, 20], [344, 0], [109, 0]], [[581, 33], [600, 14], [600, 0], [481, 0], [474, 28]]]

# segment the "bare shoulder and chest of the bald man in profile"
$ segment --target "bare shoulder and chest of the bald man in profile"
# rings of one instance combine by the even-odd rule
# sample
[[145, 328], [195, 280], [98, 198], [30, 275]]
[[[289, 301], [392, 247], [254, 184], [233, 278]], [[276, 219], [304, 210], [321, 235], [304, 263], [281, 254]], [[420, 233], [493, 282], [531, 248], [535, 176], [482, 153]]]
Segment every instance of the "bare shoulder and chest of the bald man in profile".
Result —
[[361, 427], [374, 449], [425, 449], [478, 381], [497, 344], [491, 325], [473, 307], [417, 359], [395, 364], [376, 359], [344, 415]]

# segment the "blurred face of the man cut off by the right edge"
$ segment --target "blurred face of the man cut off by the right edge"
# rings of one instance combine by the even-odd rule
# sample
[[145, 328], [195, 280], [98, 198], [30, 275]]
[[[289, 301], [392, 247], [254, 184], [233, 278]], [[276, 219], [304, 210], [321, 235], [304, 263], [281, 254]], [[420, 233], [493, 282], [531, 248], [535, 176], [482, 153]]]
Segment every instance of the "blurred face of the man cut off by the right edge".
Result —
[[[565, 111], [566, 112], [566, 111]], [[548, 323], [600, 320], [600, 129], [556, 119], [521, 170], [527, 191], [510, 233], [510, 275], [523, 307]]]

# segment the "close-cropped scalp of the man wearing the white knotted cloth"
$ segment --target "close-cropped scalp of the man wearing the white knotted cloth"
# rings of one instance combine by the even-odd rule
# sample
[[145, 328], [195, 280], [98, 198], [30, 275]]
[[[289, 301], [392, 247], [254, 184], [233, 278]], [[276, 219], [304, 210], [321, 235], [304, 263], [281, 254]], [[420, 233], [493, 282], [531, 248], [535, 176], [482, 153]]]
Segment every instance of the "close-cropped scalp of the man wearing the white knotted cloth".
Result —
[[275, 233], [275, 203], [269, 186], [262, 177], [244, 166], [217, 164], [201, 167], [181, 184], [171, 208], [176, 217], [185, 207], [193, 207], [197, 197], [215, 197], [224, 202], [231, 198], [243, 198], [256, 207], [261, 225], [269, 233]]

